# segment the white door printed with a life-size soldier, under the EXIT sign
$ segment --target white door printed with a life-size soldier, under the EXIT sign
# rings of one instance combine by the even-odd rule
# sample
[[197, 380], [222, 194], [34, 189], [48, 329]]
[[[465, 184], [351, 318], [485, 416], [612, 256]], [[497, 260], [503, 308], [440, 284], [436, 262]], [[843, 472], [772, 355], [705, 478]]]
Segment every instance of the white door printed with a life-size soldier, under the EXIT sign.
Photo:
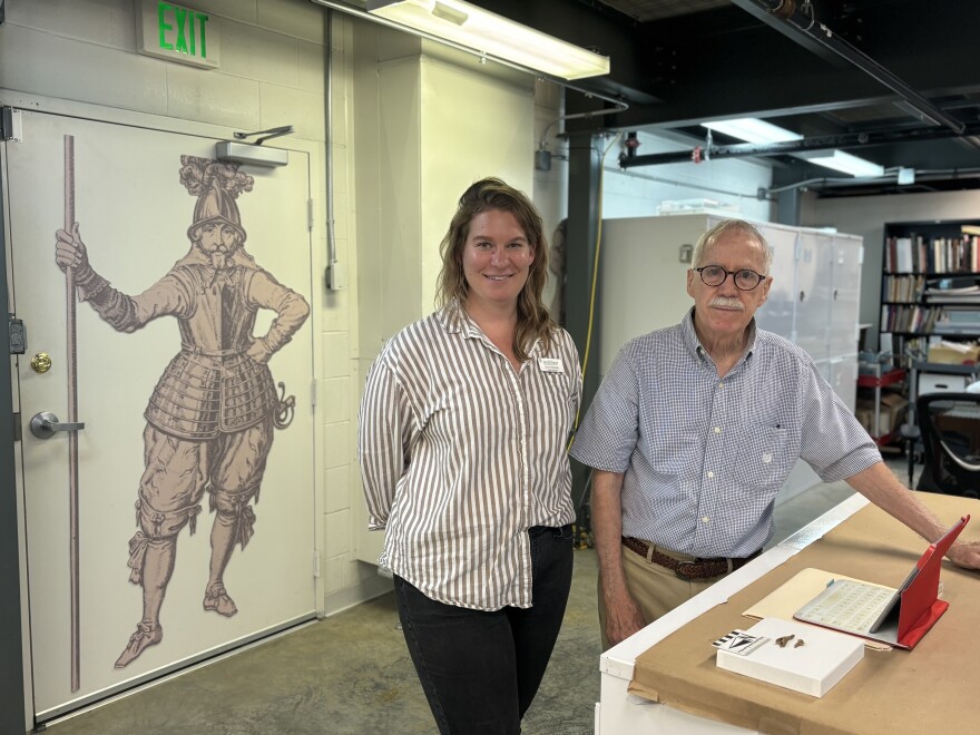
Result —
[[[236, 169], [213, 139], [20, 115], [0, 153], [43, 722], [315, 615], [310, 161]], [[74, 320], [72, 209], [105, 278], [69, 270]]]

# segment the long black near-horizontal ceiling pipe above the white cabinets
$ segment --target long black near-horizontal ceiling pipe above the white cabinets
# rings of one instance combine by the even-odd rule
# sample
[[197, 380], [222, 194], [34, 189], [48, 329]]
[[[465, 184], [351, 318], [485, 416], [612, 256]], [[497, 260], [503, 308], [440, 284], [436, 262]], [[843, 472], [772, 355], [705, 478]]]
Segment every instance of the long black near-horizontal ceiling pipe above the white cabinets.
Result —
[[[802, 140], [785, 143], [739, 143], [731, 146], [700, 146], [702, 158], [736, 158], [745, 156], [787, 156], [812, 150], [830, 150], [834, 148], [861, 148], [863, 146], [883, 145], [889, 143], [908, 143], [919, 140], [937, 140], [958, 136], [980, 136], [980, 122], [964, 125], [959, 134], [947, 128], [914, 128], [901, 130], [865, 130], [863, 133], [840, 133], [835, 135], [814, 136]], [[673, 150], [670, 153], [647, 154], [645, 156], [619, 157], [620, 168], [635, 166], [657, 166], [660, 164], [680, 164], [692, 160], [693, 149]]]

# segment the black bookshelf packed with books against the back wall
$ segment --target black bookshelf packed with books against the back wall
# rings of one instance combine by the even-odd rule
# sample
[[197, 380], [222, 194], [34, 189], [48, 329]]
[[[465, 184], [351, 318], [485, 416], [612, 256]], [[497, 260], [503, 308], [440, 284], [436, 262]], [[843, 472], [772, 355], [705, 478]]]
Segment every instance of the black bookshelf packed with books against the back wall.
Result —
[[880, 332], [906, 370], [931, 337], [980, 339], [980, 219], [885, 224]]

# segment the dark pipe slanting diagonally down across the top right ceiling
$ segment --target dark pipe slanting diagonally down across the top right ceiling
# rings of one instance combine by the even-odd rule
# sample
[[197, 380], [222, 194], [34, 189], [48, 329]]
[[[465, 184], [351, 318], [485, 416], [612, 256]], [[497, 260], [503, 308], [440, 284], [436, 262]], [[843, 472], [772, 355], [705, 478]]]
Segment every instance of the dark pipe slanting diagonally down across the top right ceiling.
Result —
[[[810, 8], [808, 13], [800, 10], [795, 0], [732, 0], [732, 2], [797, 43], [808, 48], [811, 45], [804, 41], [815, 41], [819, 46], [857, 67], [872, 79], [902, 97], [919, 114], [920, 119], [932, 125], [945, 126], [958, 135], [963, 131], [963, 122], [943, 112], [878, 61], [817, 21], [813, 14], [813, 6], [808, 0], [803, 2], [803, 7]], [[759, 10], [765, 12], [759, 12]]]

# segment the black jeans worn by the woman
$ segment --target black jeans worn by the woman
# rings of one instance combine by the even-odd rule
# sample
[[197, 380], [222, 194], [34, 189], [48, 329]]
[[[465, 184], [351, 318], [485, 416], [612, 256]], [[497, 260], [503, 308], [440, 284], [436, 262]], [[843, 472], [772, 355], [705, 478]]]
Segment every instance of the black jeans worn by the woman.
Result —
[[443, 735], [510, 735], [530, 707], [571, 587], [571, 527], [536, 526], [532, 607], [486, 612], [432, 600], [394, 577], [399, 617]]

